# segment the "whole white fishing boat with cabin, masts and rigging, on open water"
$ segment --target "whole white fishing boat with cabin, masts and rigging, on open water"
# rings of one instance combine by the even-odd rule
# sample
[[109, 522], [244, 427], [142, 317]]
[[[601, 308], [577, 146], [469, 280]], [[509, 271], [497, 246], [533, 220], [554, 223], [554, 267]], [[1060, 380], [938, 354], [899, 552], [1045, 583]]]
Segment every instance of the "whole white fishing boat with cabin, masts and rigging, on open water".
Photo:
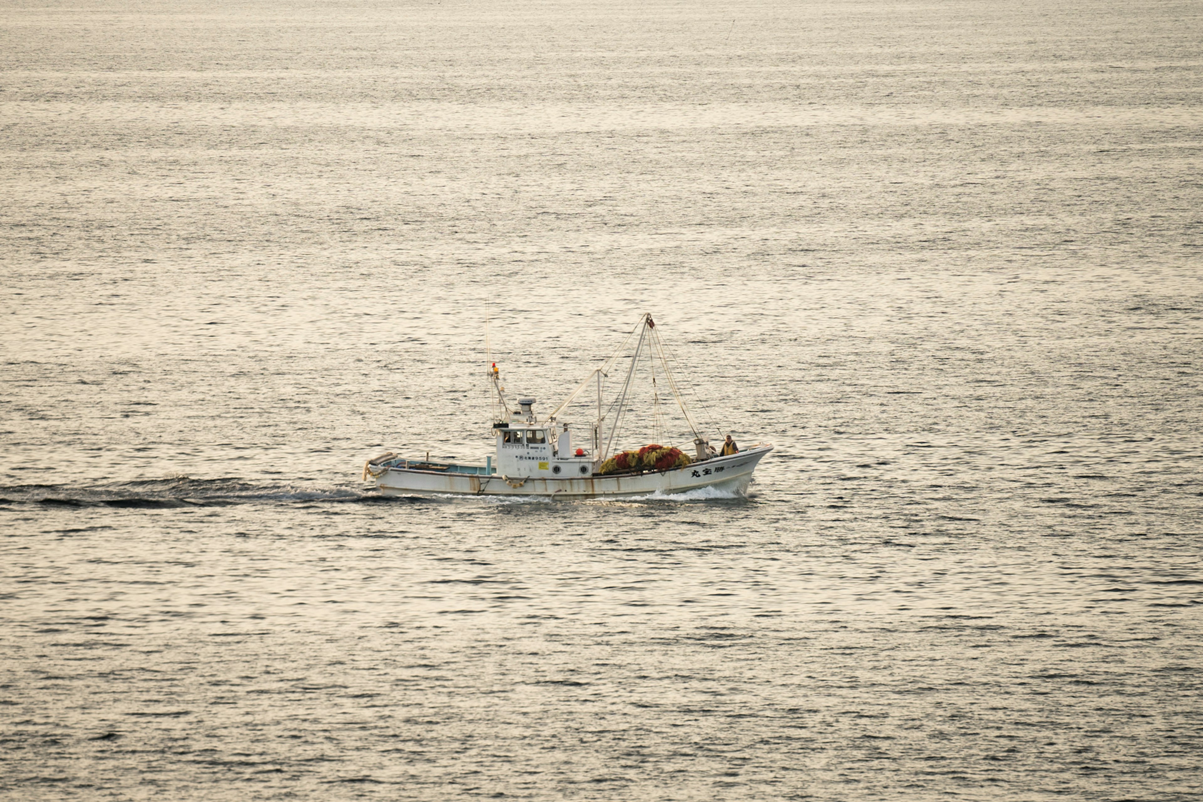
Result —
[[[634, 354], [628, 356], [633, 339]], [[630, 360], [630, 366], [606, 405], [605, 380], [624, 358]], [[772, 445], [757, 444], [735, 453], [718, 453], [687, 409], [670, 362], [670, 352], [659, 337], [656, 322], [650, 314], [645, 314], [623, 344], [540, 420], [534, 411], [534, 398], [517, 398], [516, 405], [510, 405], [500, 382], [500, 372], [486, 352], [494, 453], [486, 457], [485, 464], [432, 462], [428, 455], [426, 459], [416, 459], [387, 452], [365, 463], [363, 481], [373, 482], [385, 495], [589, 499], [676, 494], [703, 488], [712, 488], [724, 495], [746, 493], [752, 471], [772, 451]], [[611, 451], [630, 406], [636, 370], [644, 364], [653, 387], [653, 416], [660, 420], [659, 387], [668, 386], [693, 434], [692, 456], [682, 448], [658, 442], [638, 450]], [[597, 412], [582, 432], [570, 424], [568, 418], [571, 415], [565, 415], [565, 411], [576, 409], [579, 412], [582, 402], [577, 398], [593, 388]], [[592, 404], [592, 400], [588, 403]], [[606, 458], [605, 455], [612, 456]]]

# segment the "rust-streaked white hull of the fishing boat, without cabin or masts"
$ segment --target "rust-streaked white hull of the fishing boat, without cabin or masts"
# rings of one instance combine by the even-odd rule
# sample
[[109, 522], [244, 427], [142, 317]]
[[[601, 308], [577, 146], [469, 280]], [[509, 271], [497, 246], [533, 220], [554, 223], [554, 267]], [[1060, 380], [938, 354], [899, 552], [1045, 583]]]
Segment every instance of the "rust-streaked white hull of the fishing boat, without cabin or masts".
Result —
[[500, 474], [461, 474], [420, 468], [389, 468], [377, 480], [385, 495], [532, 495], [589, 499], [652, 493], [688, 493], [711, 487], [745, 493], [752, 471], [771, 445], [758, 445], [729, 457], [715, 457], [685, 468], [642, 474], [591, 475], [579, 479], [512, 477]]

